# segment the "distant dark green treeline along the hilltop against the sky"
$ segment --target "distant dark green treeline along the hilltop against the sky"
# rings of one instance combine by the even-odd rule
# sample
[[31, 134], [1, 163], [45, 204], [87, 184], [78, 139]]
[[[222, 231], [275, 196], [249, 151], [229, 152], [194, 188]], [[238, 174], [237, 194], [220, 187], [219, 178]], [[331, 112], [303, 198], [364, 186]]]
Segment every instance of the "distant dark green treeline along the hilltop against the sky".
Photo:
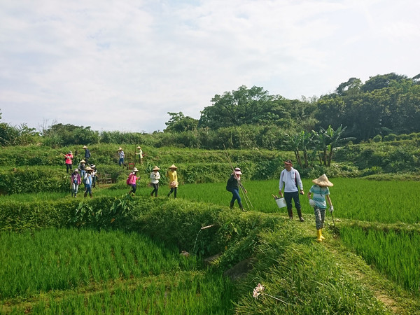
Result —
[[[73, 144], [146, 144], [189, 148], [288, 149], [290, 139], [302, 132], [321, 134], [340, 130], [353, 143], [395, 139], [400, 134], [420, 132], [420, 74], [414, 78], [388, 73], [372, 76], [365, 83], [350, 78], [335, 92], [300, 100], [269, 95], [262, 87], [241, 86], [216, 94], [212, 105], [196, 120], [182, 112], [171, 118], [163, 132], [97, 132], [90, 127], [63, 125], [41, 131], [25, 123], [0, 123], [0, 145], [41, 143], [59, 147]], [[1, 116], [0, 116], [1, 118]]]

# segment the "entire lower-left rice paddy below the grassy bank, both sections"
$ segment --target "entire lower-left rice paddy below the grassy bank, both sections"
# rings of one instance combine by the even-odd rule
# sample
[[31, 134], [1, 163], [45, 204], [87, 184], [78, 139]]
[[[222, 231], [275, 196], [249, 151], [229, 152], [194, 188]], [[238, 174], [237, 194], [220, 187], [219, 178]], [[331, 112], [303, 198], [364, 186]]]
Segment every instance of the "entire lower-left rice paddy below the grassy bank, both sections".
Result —
[[90, 314], [226, 314], [231, 308], [233, 286], [227, 278], [138, 233], [45, 229], [1, 232], [0, 240], [2, 314], [85, 314], [87, 309]]

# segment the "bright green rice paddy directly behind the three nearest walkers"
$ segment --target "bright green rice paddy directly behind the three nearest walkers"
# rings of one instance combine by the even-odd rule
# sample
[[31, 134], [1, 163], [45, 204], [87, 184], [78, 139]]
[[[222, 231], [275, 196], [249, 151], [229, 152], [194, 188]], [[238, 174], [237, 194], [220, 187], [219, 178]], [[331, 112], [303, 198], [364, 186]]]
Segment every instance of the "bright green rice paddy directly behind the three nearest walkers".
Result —
[[[330, 188], [330, 197], [337, 218], [349, 218], [360, 221], [380, 223], [418, 223], [420, 209], [418, 193], [420, 182], [416, 181], [368, 181], [363, 179], [330, 179], [334, 186]], [[248, 191], [248, 199], [256, 211], [265, 213], [284, 212], [279, 209], [272, 197], [279, 194], [279, 181], [243, 181]], [[300, 195], [302, 211], [313, 214], [309, 206], [307, 193], [311, 181], [303, 180], [305, 195]], [[140, 191], [139, 193], [142, 193]], [[244, 196], [240, 193], [243, 204]], [[179, 188], [179, 196], [199, 201], [211, 202], [228, 207], [232, 194], [225, 190], [225, 183], [204, 183], [185, 185]], [[235, 205], [236, 207], [236, 205]]]

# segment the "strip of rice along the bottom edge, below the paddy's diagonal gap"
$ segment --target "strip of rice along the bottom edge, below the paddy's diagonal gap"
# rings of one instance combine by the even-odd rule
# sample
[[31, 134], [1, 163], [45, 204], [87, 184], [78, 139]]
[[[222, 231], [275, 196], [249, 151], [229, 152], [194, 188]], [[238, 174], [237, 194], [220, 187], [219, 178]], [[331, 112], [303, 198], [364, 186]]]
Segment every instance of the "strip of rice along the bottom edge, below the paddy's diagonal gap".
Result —
[[[234, 292], [222, 274], [179, 272], [148, 277], [135, 286], [50, 297], [34, 304], [31, 314], [233, 314]], [[20, 311], [15, 308], [16, 314]]]

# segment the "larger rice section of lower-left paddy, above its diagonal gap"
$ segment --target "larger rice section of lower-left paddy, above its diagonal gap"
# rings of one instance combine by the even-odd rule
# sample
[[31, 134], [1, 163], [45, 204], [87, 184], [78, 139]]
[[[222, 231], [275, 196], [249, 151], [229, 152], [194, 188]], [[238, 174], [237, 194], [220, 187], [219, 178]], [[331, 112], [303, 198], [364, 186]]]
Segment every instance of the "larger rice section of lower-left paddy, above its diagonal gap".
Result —
[[53, 230], [0, 233], [0, 297], [30, 296], [91, 282], [195, 269], [137, 233]]

